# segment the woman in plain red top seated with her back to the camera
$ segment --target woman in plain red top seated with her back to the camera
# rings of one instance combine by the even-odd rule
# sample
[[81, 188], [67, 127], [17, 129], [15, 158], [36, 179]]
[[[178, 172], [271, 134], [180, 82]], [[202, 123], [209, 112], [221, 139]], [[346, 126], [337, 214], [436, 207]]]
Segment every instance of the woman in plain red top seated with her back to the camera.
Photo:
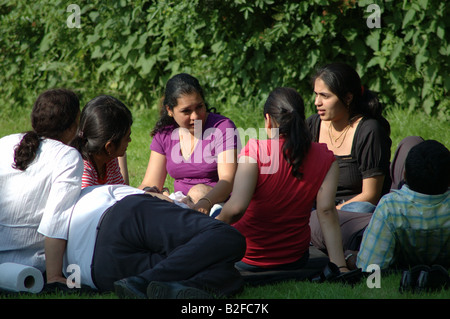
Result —
[[242, 263], [248, 270], [298, 269], [308, 260], [309, 218], [317, 201], [330, 261], [348, 271], [334, 203], [333, 153], [311, 142], [303, 100], [294, 89], [275, 89], [264, 117], [269, 139], [251, 139], [242, 150], [233, 193], [217, 219], [246, 237]]

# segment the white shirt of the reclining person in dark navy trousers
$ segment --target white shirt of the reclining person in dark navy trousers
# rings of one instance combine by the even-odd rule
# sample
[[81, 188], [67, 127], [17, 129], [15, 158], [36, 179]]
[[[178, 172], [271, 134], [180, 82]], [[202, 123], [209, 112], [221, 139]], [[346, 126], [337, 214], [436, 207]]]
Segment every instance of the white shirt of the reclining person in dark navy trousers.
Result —
[[70, 221], [63, 269], [66, 277], [74, 273], [72, 267], [67, 267], [77, 265], [80, 270], [80, 284], [97, 288], [91, 277], [91, 263], [100, 218], [109, 207], [126, 196], [143, 193], [143, 190], [127, 185], [89, 186], [81, 191]]

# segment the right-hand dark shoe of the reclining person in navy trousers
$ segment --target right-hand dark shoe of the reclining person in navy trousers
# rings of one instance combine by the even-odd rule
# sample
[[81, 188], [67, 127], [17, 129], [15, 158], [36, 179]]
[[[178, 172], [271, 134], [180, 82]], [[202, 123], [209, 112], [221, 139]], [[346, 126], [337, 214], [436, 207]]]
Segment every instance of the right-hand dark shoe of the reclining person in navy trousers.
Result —
[[176, 282], [152, 281], [147, 287], [149, 299], [213, 299], [206, 291]]

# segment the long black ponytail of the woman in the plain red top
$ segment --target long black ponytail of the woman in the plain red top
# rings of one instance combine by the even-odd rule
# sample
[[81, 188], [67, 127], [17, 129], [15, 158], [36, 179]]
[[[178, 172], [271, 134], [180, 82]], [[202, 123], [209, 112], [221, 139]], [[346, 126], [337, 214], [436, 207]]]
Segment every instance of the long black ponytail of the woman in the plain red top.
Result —
[[268, 114], [278, 124], [279, 134], [285, 139], [284, 159], [292, 167], [292, 175], [302, 179], [299, 170], [311, 146], [311, 133], [305, 123], [305, 105], [293, 88], [276, 88], [264, 104], [264, 116]]

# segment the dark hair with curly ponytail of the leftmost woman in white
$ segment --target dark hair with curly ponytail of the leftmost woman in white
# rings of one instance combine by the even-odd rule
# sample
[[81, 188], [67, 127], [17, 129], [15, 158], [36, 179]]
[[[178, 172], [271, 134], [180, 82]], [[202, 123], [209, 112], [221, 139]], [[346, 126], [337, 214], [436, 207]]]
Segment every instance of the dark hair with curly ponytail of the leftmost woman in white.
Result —
[[42, 139], [61, 140], [80, 112], [78, 96], [67, 89], [50, 89], [37, 98], [31, 111], [31, 127], [14, 150], [13, 168], [25, 171], [36, 157]]

